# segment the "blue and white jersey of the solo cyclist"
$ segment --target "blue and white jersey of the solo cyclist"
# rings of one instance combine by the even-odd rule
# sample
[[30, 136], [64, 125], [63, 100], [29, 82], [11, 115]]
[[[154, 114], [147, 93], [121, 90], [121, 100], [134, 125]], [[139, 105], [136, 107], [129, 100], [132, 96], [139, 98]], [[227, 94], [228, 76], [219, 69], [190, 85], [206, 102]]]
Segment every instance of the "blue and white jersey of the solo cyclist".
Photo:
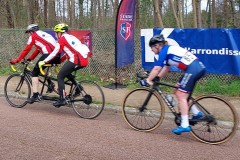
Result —
[[165, 45], [154, 59], [154, 66], [176, 66], [186, 70], [197, 57], [182, 47]]

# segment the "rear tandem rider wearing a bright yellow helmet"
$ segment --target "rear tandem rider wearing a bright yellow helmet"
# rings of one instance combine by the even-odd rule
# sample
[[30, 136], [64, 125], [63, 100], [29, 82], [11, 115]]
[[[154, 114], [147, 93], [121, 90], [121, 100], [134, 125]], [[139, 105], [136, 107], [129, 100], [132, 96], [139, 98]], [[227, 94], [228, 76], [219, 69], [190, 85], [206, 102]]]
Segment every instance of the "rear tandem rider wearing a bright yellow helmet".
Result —
[[[58, 101], [53, 103], [55, 107], [60, 107], [67, 104], [65, 100], [64, 78], [67, 77], [73, 82], [74, 76], [71, 73], [88, 65], [88, 55], [90, 50], [85, 44], [82, 44], [81, 41], [75, 36], [67, 33], [67, 24], [61, 23], [56, 25], [54, 27], [54, 31], [56, 32], [56, 35], [58, 37], [58, 43], [50, 56], [48, 56], [43, 61], [40, 61], [38, 64], [39, 66], [42, 66], [45, 63], [49, 63], [49, 61], [51, 61], [58, 54], [62, 52], [65, 53], [68, 61], [62, 66], [58, 74], [58, 92], [60, 98]], [[76, 92], [80, 91], [76, 90]]]

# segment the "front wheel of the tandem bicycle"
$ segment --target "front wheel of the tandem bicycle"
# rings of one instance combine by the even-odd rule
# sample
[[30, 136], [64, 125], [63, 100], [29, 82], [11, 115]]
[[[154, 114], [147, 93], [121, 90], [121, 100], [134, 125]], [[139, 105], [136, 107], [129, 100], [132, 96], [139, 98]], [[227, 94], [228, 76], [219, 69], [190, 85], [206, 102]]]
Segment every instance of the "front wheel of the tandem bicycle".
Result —
[[10, 75], [4, 85], [4, 94], [12, 107], [22, 108], [31, 95], [30, 83], [20, 74]]

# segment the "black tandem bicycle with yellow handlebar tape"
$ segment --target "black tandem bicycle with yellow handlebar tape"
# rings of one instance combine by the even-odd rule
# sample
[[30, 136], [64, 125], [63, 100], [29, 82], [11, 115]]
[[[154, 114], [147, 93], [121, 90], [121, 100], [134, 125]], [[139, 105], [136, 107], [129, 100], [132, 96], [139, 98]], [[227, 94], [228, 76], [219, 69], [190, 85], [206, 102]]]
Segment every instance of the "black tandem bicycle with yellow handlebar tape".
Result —
[[[24, 60], [21, 62], [21, 73], [10, 75], [4, 85], [4, 94], [7, 102], [15, 108], [22, 108], [28, 104], [28, 99], [31, 96], [31, 70], [28, 67], [29, 62]], [[57, 78], [51, 76], [52, 67], [58, 69], [58, 65], [46, 64], [45, 70], [40, 68], [42, 74], [39, 75], [39, 83], [41, 86], [41, 101], [57, 101], [59, 95], [56, 88], [48, 84], [47, 81], [56, 82]], [[16, 69], [11, 65], [13, 71]], [[46, 73], [45, 73], [46, 72]], [[85, 119], [93, 119], [98, 117], [104, 109], [105, 97], [101, 87], [94, 81], [82, 80], [76, 81], [76, 71], [74, 72], [74, 82], [65, 80], [65, 85], [69, 86], [66, 93], [67, 106], [71, 106], [78, 116]], [[76, 89], [80, 93], [76, 94]], [[46, 93], [46, 89], [51, 89], [51, 93]], [[67, 90], [67, 89], [66, 89]]]

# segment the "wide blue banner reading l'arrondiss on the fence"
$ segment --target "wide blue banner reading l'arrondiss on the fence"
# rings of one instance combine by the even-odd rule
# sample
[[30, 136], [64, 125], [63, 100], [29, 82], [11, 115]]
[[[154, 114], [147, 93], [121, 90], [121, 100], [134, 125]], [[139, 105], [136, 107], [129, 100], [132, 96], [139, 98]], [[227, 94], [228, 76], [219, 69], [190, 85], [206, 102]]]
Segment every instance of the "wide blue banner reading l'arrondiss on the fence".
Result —
[[148, 43], [156, 34], [163, 34], [169, 45], [195, 54], [208, 73], [240, 75], [240, 29], [142, 29], [142, 67], [146, 70], [153, 67], [154, 53]]

